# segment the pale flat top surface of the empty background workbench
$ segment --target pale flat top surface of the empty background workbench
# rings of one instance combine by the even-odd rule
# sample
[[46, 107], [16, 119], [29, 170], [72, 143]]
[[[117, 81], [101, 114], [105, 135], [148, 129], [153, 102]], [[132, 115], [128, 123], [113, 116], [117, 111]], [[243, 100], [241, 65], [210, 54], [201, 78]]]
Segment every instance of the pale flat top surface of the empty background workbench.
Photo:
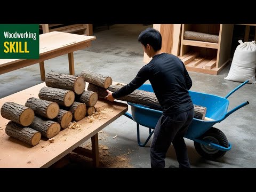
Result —
[[[53, 51], [66, 49], [96, 39], [94, 36], [77, 35], [53, 31], [39, 35], [39, 55], [42, 56]], [[10, 65], [25, 59], [0, 59], [0, 66]]]

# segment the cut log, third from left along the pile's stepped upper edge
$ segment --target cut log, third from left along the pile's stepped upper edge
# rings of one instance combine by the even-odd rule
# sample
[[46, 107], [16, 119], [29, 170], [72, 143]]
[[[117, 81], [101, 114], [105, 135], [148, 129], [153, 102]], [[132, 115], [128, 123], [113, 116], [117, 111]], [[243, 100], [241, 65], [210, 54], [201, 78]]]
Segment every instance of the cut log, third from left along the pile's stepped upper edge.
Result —
[[39, 99], [57, 102], [60, 106], [70, 107], [75, 101], [75, 93], [52, 87], [42, 87], [38, 94]]

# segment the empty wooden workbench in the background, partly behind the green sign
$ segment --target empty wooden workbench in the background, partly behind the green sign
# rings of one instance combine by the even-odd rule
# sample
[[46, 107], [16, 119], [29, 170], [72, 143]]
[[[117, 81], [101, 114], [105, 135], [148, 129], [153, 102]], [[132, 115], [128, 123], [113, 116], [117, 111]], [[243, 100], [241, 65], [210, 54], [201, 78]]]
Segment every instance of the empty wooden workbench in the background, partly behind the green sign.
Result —
[[88, 47], [94, 39], [96, 39], [94, 36], [59, 31], [41, 34], [39, 35], [39, 59], [0, 59], [0, 75], [39, 63], [41, 79], [44, 81], [44, 61], [63, 54], [68, 54], [69, 74], [75, 75], [73, 52]]

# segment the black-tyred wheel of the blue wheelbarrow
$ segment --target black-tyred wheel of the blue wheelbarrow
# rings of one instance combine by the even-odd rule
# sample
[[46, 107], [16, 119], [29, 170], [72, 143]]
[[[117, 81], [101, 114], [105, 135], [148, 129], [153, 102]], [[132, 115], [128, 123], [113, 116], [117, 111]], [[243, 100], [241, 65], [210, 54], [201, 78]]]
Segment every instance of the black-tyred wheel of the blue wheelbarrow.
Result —
[[[228, 139], [226, 135], [222, 131], [214, 127], [211, 127], [198, 139], [211, 141], [217, 145], [228, 147]], [[202, 143], [198, 143], [196, 141], [194, 141], [194, 146], [199, 155], [209, 160], [219, 159], [220, 157], [225, 155], [227, 152], [227, 151], [221, 151], [219, 149], [215, 149], [215, 148], [203, 145]]]

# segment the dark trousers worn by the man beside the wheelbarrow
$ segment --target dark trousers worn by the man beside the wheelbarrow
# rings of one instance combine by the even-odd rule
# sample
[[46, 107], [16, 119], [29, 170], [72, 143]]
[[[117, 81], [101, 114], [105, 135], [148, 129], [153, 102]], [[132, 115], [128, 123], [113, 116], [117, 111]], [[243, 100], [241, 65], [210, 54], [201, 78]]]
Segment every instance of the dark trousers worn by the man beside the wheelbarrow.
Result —
[[164, 168], [164, 159], [171, 143], [173, 143], [179, 167], [190, 167], [187, 147], [183, 137], [193, 118], [194, 108], [171, 116], [162, 115], [159, 118], [150, 146], [152, 168]]

